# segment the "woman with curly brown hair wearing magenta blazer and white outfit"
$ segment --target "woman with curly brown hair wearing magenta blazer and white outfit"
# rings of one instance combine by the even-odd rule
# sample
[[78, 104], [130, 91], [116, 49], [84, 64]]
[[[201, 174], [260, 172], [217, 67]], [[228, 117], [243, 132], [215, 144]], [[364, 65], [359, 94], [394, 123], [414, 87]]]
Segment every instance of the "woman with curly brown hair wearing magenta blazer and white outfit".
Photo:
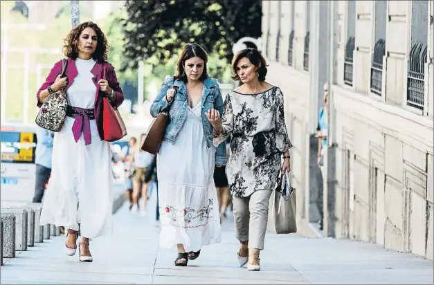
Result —
[[53, 171], [41, 225], [68, 228], [66, 255], [75, 255], [80, 225], [80, 261], [90, 262], [89, 239], [112, 230], [111, 151], [102, 129], [102, 99], [109, 98], [118, 107], [124, 94], [114, 67], [107, 62], [109, 45], [98, 25], [91, 21], [78, 25], [64, 43], [66, 76], [60, 77], [61, 60], [37, 91], [38, 107], [60, 89], [68, 101], [64, 125], [53, 141]]

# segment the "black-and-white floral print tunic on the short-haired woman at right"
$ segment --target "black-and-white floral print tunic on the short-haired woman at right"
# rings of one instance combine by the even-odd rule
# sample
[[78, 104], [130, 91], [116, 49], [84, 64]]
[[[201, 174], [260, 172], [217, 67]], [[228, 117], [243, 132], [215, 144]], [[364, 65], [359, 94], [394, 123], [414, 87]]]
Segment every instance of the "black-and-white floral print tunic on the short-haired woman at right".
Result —
[[[257, 94], [230, 91], [221, 118], [223, 133], [215, 145], [232, 135], [226, 175], [230, 192], [247, 197], [257, 190], [273, 190], [282, 153], [292, 147], [284, 121], [282, 91], [276, 86]], [[253, 138], [263, 134], [264, 154], [253, 152]]]

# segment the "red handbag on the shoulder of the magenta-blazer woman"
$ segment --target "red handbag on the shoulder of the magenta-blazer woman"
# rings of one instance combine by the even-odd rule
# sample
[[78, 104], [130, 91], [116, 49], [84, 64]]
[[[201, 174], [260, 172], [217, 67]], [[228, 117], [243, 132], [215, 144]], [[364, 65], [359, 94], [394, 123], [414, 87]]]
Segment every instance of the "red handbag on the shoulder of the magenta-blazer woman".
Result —
[[[103, 64], [102, 79], [105, 80], [105, 64]], [[115, 142], [127, 136], [127, 128], [117, 107], [111, 105], [109, 98], [102, 98], [102, 132], [104, 140]]]

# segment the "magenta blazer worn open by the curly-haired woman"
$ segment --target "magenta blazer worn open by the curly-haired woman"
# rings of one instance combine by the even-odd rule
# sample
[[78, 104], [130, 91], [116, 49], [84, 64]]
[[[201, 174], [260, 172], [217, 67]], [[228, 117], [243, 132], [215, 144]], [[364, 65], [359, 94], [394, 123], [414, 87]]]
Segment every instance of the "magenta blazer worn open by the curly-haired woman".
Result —
[[[108, 62], [105, 62], [106, 65], [106, 75], [105, 79], [109, 82], [109, 86], [111, 89], [114, 89], [114, 95], [116, 98], [116, 101], [114, 103], [114, 106], [119, 107], [120, 104], [122, 104], [123, 100], [125, 99], [125, 95], [120, 88], [118, 78], [116, 77], [116, 72], [114, 71], [114, 66], [109, 64]], [[102, 64], [100, 62], [96, 62], [95, 66], [93, 66], [91, 73], [94, 75], [92, 78], [93, 84], [96, 86], [96, 94], [95, 94], [95, 120], [96, 125], [98, 128], [98, 134], [100, 136], [101, 140], [104, 140], [104, 132], [102, 130], [102, 98], [104, 98], [104, 94], [100, 92], [100, 86], [98, 85], [98, 81], [102, 78]], [[44, 84], [42, 84], [41, 88], [36, 93], [37, 97], [37, 106], [41, 107], [42, 103], [39, 102], [39, 93], [41, 91], [47, 89], [49, 86], [51, 86], [57, 77], [62, 72], [62, 60], [59, 62], [56, 62], [51, 68], [50, 73], [48, 74], [48, 77], [46, 77], [46, 80]], [[66, 85], [65, 91], [71, 86], [74, 82], [75, 76], [78, 75], [77, 66], [75, 66], [75, 59], [68, 58], [68, 67], [66, 68], [66, 77], [68, 77], [68, 84]], [[73, 106], [74, 107], [74, 106]]]

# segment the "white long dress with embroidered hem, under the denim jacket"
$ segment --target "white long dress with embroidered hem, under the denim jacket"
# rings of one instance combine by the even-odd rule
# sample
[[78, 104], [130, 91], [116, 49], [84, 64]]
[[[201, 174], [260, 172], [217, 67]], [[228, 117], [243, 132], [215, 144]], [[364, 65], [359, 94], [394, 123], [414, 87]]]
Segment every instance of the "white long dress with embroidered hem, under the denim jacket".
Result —
[[164, 140], [157, 156], [161, 247], [180, 243], [190, 252], [220, 242], [214, 165], [215, 148], [206, 145], [199, 102], [188, 107], [174, 145]]

